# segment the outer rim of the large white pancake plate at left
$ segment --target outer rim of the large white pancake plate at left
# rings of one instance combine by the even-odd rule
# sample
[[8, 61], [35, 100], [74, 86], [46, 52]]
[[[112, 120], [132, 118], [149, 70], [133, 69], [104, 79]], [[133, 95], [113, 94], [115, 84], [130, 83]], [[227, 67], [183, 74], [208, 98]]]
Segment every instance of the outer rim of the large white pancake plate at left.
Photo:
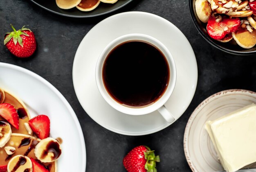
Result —
[[36, 80], [38, 80], [39, 82], [43, 83], [44, 85], [46, 85], [47, 87], [49, 87], [49, 89], [51, 89], [57, 96], [58, 98], [61, 99], [61, 101], [63, 102], [63, 104], [65, 105], [65, 107], [67, 107], [70, 115], [72, 116], [72, 119], [74, 120], [75, 124], [76, 124], [76, 129], [79, 133], [79, 137], [80, 139], [80, 144], [81, 144], [81, 153], [82, 153], [82, 162], [85, 162], [82, 165], [82, 169], [83, 172], [85, 172], [86, 169], [86, 148], [85, 148], [85, 141], [84, 141], [84, 137], [83, 137], [83, 131], [81, 128], [81, 125], [79, 123], [79, 120], [74, 112], [74, 110], [72, 109], [71, 105], [69, 104], [69, 102], [67, 102], [67, 100], [65, 99], [65, 97], [61, 94], [60, 91], [58, 91], [58, 89], [56, 89], [51, 83], [49, 83], [47, 80], [45, 80], [43, 77], [39, 76], [38, 74], [27, 70], [23, 67], [17, 66], [17, 65], [13, 65], [13, 64], [9, 64], [9, 63], [3, 63], [0, 62], [0, 67], [6, 67], [9, 68], [11, 70], [16, 70], [18, 72], [22, 72], [26, 75], [32, 76], [33, 78], [35, 78]]

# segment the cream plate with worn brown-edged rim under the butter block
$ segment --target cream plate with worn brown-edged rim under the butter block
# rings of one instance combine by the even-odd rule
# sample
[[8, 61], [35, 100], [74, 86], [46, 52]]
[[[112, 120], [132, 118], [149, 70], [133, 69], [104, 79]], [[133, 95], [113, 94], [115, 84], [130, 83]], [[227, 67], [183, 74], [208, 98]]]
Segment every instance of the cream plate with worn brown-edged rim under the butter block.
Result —
[[184, 133], [184, 152], [193, 172], [223, 170], [211, 139], [204, 129], [205, 123], [255, 102], [255, 92], [231, 89], [213, 94], [198, 105], [189, 118]]

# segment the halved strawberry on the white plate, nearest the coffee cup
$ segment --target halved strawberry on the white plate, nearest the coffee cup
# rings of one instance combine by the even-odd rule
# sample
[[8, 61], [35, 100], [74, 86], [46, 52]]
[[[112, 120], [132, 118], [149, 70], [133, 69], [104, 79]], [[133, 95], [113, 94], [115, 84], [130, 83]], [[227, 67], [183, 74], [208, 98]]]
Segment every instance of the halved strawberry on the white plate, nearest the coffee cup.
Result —
[[45, 139], [50, 135], [50, 120], [46, 115], [38, 115], [29, 120], [29, 126], [40, 139]]

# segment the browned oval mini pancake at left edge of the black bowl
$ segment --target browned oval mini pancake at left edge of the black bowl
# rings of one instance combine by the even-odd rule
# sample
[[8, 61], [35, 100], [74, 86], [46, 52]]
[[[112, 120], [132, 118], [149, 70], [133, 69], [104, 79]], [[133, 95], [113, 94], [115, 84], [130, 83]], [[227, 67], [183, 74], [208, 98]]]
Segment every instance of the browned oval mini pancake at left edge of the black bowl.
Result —
[[199, 20], [207, 23], [212, 13], [209, 2], [207, 0], [196, 0], [195, 12], [198, 15]]

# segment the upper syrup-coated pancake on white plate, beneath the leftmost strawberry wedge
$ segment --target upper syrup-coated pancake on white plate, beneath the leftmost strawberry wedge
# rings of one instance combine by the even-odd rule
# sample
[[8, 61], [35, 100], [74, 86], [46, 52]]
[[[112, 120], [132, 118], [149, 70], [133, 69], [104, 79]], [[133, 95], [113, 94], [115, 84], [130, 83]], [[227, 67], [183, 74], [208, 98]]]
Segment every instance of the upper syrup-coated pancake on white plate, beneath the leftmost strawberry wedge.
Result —
[[[9, 104], [13, 105], [13, 107], [18, 111], [18, 115], [20, 118], [19, 119], [19, 129], [16, 129], [13, 126], [11, 126], [12, 133], [28, 134], [24, 123], [28, 122], [31, 118], [30, 118], [29, 111], [27, 110], [26, 105], [22, 102], [22, 100], [20, 100], [16, 96], [13, 96], [13, 94], [7, 92], [4, 89], [2, 89], [2, 90], [4, 91], [3, 103], [9, 103]], [[0, 116], [0, 120], [4, 120], [4, 118], [2, 118]]]

